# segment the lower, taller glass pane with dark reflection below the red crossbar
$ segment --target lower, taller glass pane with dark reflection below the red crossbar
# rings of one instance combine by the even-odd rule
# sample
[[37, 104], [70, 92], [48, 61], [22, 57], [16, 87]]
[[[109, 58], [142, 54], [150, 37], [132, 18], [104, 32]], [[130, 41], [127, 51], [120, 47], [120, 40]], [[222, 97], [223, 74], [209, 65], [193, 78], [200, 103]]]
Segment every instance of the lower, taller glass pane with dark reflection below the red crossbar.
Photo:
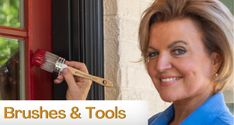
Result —
[[[23, 42], [0, 37], [0, 99], [22, 99], [24, 86]], [[25, 88], [25, 87], [23, 87]]]

